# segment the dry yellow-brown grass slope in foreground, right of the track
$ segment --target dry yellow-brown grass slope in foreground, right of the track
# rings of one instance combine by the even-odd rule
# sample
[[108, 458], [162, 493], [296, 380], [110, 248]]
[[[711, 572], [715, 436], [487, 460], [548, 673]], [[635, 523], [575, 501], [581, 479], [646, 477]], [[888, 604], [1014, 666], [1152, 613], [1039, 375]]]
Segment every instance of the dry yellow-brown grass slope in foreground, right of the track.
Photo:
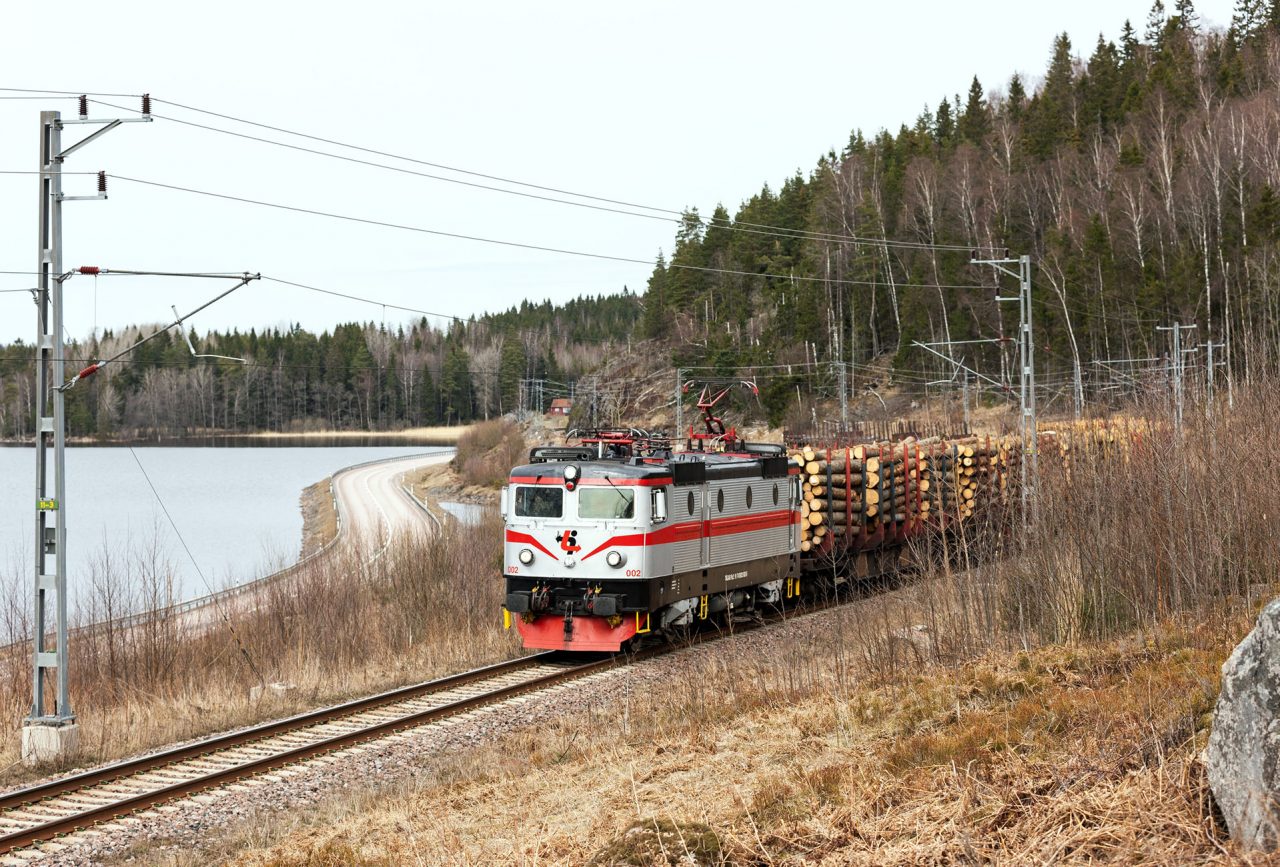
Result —
[[1160, 639], [888, 680], [838, 638], [724, 648], [680, 689], [424, 759], [415, 790], [165, 863], [1235, 863], [1194, 763], [1226, 644]]

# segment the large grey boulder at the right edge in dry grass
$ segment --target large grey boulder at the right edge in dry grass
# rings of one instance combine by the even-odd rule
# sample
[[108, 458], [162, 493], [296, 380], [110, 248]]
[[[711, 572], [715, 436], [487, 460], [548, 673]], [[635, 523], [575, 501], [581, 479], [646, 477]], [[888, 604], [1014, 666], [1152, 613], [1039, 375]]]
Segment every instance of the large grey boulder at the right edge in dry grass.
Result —
[[1249, 849], [1280, 843], [1280, 599], [1222, 663], [1208, 736], [1208, 784], [1231, 838]]

